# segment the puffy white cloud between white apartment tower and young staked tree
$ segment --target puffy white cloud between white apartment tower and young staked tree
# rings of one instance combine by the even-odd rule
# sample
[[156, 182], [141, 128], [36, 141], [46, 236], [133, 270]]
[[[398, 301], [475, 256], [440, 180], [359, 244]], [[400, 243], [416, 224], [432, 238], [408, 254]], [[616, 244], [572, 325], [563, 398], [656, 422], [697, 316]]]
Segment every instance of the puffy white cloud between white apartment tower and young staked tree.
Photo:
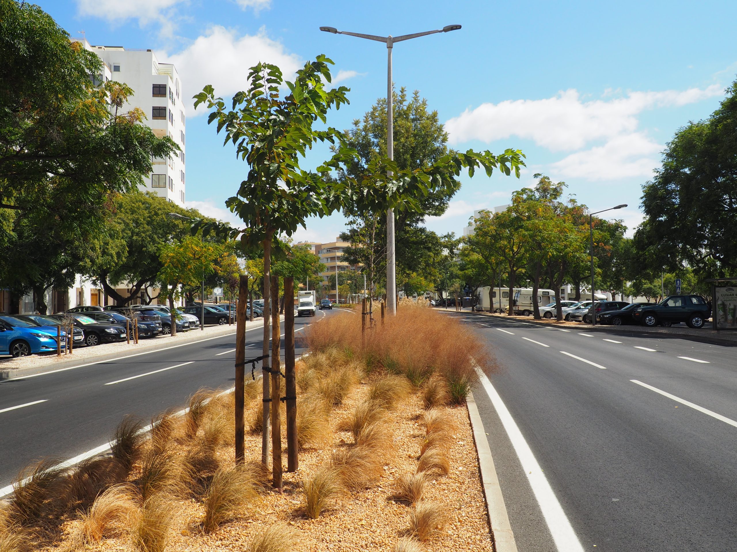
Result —
[[217, 96], [232, 96], [248, 86], [248, 68], [256, 63], [273, 63], [289, 77], [302, 63], [297, 54], [290, 54], [282, 43], [268, 38], [265, 29], [256, 35], [239, 36], [224, 26], [210, 27], [206, 35], [198, 37], [178, 54], [162, 60], [173, 63], [182, 79], [187, 115], [206, 113], [202, 106], [194, 110], [191, 100], [205, 85], [212, 85]]

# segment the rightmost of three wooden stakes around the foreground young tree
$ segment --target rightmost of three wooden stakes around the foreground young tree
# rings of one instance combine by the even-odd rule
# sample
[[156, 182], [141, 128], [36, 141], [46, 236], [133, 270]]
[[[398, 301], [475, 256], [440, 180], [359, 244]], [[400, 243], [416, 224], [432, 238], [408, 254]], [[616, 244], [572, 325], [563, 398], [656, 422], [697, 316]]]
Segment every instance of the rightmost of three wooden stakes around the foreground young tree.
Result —
[[297, 379], [294, 369], [294, 278], [284, 278], [284, 394], [287, 396], [287, 472], [299, 467], [297, 450]]

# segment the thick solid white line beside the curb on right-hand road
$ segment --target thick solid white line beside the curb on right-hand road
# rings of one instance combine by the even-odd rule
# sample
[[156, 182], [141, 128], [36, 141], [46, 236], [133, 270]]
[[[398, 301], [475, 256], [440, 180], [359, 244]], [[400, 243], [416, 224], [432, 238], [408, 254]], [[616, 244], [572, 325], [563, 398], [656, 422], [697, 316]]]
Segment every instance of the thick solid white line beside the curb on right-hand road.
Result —
[[514, 418], [511, 417], [509, 410], [506, 408], [497, 390], [492, 386], [492, 382], [486, 377], [486, 374], [478, 367], [476, 367], [476, 372], [478, 372], [483, 389], [489, 395], [489, 399], [492, 401], [499, 415], [499, 419], [509, 436], [511, 445], [517, 453], [517, 458], [520, 459], [525, 477], [527, 477], [532, 492], [537, 499], [542, 516], [545, 517], [545, 523], [548, 524], [548, 530], [551, 532], [556, 548], [558, 548], [559, 552], [583, 552], [584, 549], [581, 547], [579, 537], [576, 537], [576, 532], [573, 531], [570, 521], [568, 521], [565, 512], [563, 512], [562, 506], [556, 498], [550, 483], [548, 483], [548, 479], [545, 478], [545, 473], [542, 472], [542, 468], [537, 463], [537, 459], [535, 459], [530, 445], [525, 441], [520, 428], [517, 427], [517, 423], [514, 422]]

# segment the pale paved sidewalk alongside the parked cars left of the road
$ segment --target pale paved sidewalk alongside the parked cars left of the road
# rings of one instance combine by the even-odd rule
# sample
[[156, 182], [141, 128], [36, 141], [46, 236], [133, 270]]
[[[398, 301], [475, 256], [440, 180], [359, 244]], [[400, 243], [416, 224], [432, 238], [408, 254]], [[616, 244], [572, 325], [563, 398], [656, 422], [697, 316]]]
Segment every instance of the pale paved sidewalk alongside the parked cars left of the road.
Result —
[[[284, 316], [282, 315], [282, 320]], [[247, 321], [245, 329], [263, 328], [264, 320], [262, 318]], [[176, 336], [156, 336], [150, 339], [140, 339], [138, 344], [132, 341], [130, 344], [108, 343], [97, 345], [95, 347], [79, 347], [72, 350], [71, 355], [57, 356], [55, 353], [45, 355], [30, 355], [21, 358], [4, 357], [0, 359], [0, 380], [12, 378], [21, 378], [28, 375], [34, 375], [47, 370], [65, 369], [78, 366], [80, 364], [95, 364], [97, 362], [106, 361], [110, 358], [119, 358], [127, 355], [137, 355], [157, 349], [164, 349], [176, 345], [182, 345], [192, 342], [203, 341], [220, 336], [227, 336], [235, 333], [235, 324], [225, 326], [206, 326], [204, 330], [199, 328], [189, 330], [187, 332], [177, 333]]]

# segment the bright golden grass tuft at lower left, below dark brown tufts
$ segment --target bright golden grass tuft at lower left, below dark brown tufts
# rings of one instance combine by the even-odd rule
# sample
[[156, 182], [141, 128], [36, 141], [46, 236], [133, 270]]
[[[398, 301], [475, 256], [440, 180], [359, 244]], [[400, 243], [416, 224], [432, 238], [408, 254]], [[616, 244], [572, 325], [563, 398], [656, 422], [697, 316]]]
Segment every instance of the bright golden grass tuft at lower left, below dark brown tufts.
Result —
[[99, 542], [127, 529], [137, 512], [135, 496], [136, 489], [130, 484], [113, 485], [99, 495], [89, 512], [80, 516], [77, 534], [81, 544]]

